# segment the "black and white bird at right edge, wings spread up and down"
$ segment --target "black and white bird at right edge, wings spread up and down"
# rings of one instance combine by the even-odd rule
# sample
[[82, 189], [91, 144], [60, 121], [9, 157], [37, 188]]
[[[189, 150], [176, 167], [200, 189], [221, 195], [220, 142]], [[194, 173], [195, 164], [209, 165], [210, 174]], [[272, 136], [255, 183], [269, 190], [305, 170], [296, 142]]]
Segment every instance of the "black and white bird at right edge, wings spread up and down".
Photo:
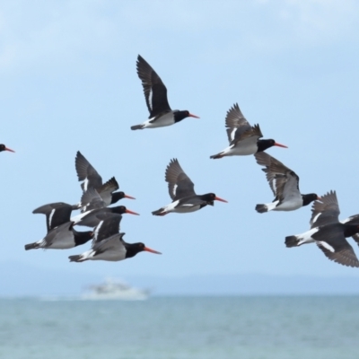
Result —
[[352, 246], [346, 241], [353, 237], [359, 244], [358, 216], [352, 216], [339, 222], [339, 206], [336, 191], [329, 191], [315, 201], [311, 209], [311, 230], [302, 234], [285, 237], [288, 248], [299, 247], [306, 243], [316, 243], [324, 255], [343, 266], [359, 267], [358, 258]]

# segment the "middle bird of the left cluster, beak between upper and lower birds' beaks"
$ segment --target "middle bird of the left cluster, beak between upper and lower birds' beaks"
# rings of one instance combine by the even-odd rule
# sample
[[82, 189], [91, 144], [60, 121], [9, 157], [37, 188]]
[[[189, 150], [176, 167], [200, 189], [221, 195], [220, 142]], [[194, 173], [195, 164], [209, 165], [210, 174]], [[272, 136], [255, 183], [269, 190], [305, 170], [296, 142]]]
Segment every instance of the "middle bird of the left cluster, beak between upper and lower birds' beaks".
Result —
[[74, 222], [74, 225], [95, 227], [100, 223], [99, 215], [101, 214], [113, 213], [118, 215], [138, 215], [136, 212], [127, 209], [126, 206], [106, 207], [104, 205], [105, 203], [101, 196], [97, 193], [96, 189], [89, 188], [86, 192], [83, 193], [83, 197], [81, 199], [83, 213], [80, 215], [75, 215], [71, 218], [71, 221]]

